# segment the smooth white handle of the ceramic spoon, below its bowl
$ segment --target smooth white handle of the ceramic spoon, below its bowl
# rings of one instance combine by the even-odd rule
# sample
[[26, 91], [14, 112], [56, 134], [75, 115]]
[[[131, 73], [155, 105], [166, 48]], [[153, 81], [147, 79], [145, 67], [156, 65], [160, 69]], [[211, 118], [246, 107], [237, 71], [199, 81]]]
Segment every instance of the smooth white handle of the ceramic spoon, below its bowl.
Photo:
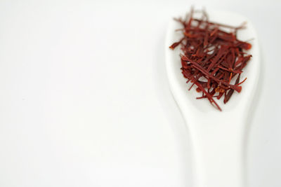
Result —
[[226, 119], [211, 123], [201, 119], [189, 125], [196, 187], [244, 187], [245, 125]]

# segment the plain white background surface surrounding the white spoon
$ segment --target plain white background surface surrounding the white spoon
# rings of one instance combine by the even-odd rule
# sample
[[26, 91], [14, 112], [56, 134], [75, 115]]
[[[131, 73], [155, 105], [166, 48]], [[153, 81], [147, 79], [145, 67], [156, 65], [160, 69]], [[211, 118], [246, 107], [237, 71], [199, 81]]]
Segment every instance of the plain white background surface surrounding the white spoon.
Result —
[[0, 1], [0, 186], [192, 186], [164, 67], [178, 12], [256, 26], [263, 56], [249, 187], [281, 186], [280, 1]]

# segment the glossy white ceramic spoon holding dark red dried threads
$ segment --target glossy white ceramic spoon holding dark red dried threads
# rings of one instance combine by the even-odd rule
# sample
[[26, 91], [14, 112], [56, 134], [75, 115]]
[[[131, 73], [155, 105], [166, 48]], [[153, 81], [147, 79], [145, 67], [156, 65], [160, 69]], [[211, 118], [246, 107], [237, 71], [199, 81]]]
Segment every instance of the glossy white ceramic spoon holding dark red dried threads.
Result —
[[242, 84], [242, 91], [239, 94], [235, 92], [227, 104], [223, 104], [223, 98], [218, 101], [223, 111], [211, 106], [207, 99], [195, 99], [198, 93], [195, 88], [188, 91], [187, 80], [181, 74], [180, 50], [169, 49], [172, 43], [181, 38], [180, 32], [175, 32], [181, 25], [174, 20], [171, 20], [166, 35], [166, 72], [171, 92], [190, 130], [195, 156], [195, 186], [244, 187], [245, 132], [249, 125], [247, 116], [251, 113], [250, 106], [259, 79], [258, 39], [253, 25], [242, 15], [225, 11], [207, 12], [210, 21], [226, 25], [239, 26], [247, 21], [247, 29], [238, 32], [238, 39], [254, 39], [248, 51], [253, 57], [240, 78], [244, 80], [247, 77]]

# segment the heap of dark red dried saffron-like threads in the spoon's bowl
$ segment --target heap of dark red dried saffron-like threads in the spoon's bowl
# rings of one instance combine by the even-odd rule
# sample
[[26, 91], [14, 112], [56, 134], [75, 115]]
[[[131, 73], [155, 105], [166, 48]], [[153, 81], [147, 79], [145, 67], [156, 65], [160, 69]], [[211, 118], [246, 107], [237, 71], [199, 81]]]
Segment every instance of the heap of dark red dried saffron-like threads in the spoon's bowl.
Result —
[[[183, 29], [176, 30], [183, 33], [183, 38], [169, 48], [174, 50], [181, 46], [181, 71], [188, 79], [187, 83], [192, 83], [189, 90], [196, 85], [196, 91], [202, 92], [202, 97], [197, 99], [207, 98], [221, 111], [214, 97], [220, 99], [224, 96], [226, 104], [234, 91], [241, 92], [241, 84], [247, 78], [240, 82], [240, 75], [251, 59], [244, 50], [249, 50], [251, 44], [237, 39], [237, 31], [244, 29], [244, 23], [233, 27], [209, 22], [207, 13], [200, 12], [201, 19], [194, 18], [193, 9], [185, 20], [175, 19], [183, 25]], [[231, 84], [233, 79], [235, 83]]]

